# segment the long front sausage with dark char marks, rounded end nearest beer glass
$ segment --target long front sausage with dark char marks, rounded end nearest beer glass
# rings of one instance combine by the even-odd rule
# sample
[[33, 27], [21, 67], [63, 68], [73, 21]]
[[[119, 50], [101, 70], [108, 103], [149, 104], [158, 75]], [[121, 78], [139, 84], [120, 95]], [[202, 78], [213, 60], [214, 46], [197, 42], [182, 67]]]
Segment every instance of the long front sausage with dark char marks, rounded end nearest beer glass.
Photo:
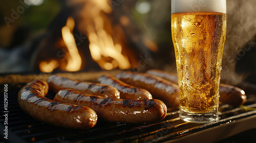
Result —
[[159, 100], [127, 100], [93, 96], [72, 89], [60, 90], [55, 101], [92, 108], [99, 120], [119, 123], [150, 123], [162, 120], [167, 108]]

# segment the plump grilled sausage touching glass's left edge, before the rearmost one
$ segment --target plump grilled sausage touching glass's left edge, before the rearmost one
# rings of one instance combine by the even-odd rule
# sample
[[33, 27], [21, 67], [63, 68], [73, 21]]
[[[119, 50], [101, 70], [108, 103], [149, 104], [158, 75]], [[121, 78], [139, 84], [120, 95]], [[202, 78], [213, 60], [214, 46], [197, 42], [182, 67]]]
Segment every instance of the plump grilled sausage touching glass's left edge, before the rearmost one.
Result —
[[167, 107], [179, 106], [179, 87], [172, 82], [149, 74], [129, 71], [118, 74], [117, 78], [127, 84], [146, 89], [152, 94], [153, 99], [163, 101]]

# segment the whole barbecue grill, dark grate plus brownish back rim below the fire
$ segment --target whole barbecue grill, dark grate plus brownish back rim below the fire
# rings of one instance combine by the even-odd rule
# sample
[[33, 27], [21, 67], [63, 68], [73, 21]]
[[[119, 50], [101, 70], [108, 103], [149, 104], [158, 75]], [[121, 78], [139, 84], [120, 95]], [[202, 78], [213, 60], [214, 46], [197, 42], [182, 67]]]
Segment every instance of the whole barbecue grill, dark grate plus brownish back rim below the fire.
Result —
[[[103, 73], [116, 75], [119, 70], [98, 72], [58, 73], [73, 79], [97, 82]], [[8, 84], [8, 139], [0, 142], [215, 142], [248, 131], [255, 132], [256, 111], [230, 105], [220, 105], [220, 120], [208, 124], [186, 123], [180, 120], [177, 110], [168, 109], [166, 117], [150, 124], [123, 124], [98, 121], [88, 130], [66, 129], [34, 120], [17, 104], [19, 89], [35, 79], [47, 80], [50, 74], [9, 74], [0, 76], [0, 126], [4, 137], [4, 84]], [[49, 91], [47, 98], [53, 99]], [[246, 107], [256, 107], [256, 95], [247, 93]], [[65, 120], [65, 119], [63, 119]], [[252, 139], [252, 138], [250, 138]], [[246, 140], [243, 139], [243, 140]], [[254, 139], [256, 140], [256, 139]]]

